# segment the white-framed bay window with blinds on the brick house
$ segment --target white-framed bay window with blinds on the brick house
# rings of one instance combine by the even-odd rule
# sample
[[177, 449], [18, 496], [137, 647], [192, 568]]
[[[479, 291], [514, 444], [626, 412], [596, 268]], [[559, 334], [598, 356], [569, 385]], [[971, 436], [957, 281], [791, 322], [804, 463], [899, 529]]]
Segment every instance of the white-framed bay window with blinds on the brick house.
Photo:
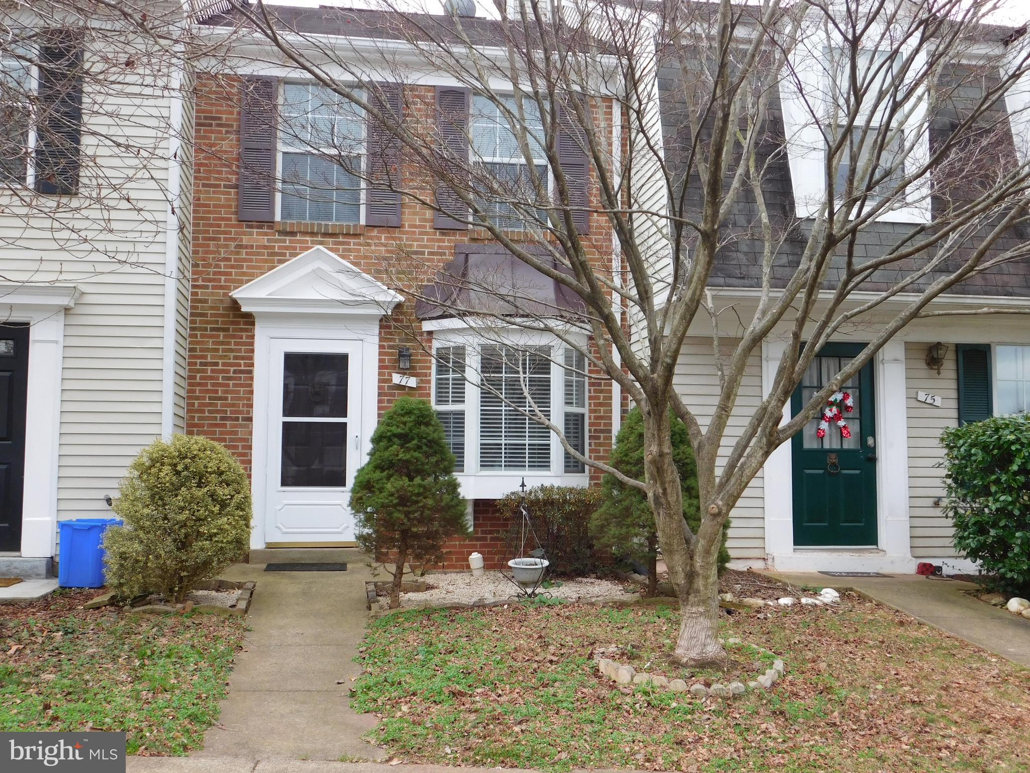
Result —
[[586, 471], [550, 429], [527, 415], [540, 413], [563, 428], [569, 443], [586, 455], [582, 354], [557, 345], [441, 341], [435, 358], [433, 401], [456, 472], [557, 477]]

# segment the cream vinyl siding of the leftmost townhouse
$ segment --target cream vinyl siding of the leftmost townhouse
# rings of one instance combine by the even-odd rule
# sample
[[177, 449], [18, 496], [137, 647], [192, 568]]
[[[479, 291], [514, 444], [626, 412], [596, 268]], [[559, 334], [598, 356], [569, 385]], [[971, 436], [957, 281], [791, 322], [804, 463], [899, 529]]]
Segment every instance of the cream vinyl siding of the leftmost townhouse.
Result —
[[108, 514], [104, 495], [161, 432], [169, 99], [152, 72], [109, 62], [84, 86], [80, 181], [107, 200], [0, 199], [4, 279], [81, 291], [64, 316], [59, 519]]

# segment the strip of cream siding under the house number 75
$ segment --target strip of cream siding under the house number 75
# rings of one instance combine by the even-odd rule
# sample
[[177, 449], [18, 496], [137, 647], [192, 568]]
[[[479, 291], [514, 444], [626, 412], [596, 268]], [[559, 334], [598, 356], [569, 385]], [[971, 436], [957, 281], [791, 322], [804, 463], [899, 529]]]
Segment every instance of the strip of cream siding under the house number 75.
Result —
[[[952, 527], [933, 500], [941, 496], [940, 460], [943, 451], [938, 438], [942, 430], [957, 427], [958, 368], [955, 346], [950, 346], [945, 365], [926, 367], [926, 350], [932, 341], [905, 343], [905, 381], [908, 411], [908, 530], [912, 554], [916, 558], [949, 558], [958, 553], [952, 546]], [[921, 403], [916, 393], [939, 395], [939, 408]]]

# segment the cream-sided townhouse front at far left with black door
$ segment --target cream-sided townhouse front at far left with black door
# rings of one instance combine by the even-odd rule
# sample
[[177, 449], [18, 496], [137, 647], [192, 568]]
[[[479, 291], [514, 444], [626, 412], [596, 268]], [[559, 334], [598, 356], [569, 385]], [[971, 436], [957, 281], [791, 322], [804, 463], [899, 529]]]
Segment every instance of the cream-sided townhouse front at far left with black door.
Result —
[[140, 447], [185, 429], [193, 111], [185, 70], [135, 64], [150, 41], [19, 13], [0, 58], [0, 574], [44, 577], [59, 520], [110, 516]]

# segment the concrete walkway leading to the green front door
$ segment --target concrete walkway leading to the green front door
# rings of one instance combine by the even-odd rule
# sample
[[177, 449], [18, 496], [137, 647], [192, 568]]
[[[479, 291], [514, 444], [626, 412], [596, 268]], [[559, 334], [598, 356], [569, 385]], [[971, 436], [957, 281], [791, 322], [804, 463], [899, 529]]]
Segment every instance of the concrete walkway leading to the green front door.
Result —
[[1030, 621], [963, 593], [976, 589], [971, 582], [932, 580], [915, 574], [893, 577], [827, 577], [818, 572], [765, 574], [795, 585], [854, 589], [873, 601], [1030, 668]]

